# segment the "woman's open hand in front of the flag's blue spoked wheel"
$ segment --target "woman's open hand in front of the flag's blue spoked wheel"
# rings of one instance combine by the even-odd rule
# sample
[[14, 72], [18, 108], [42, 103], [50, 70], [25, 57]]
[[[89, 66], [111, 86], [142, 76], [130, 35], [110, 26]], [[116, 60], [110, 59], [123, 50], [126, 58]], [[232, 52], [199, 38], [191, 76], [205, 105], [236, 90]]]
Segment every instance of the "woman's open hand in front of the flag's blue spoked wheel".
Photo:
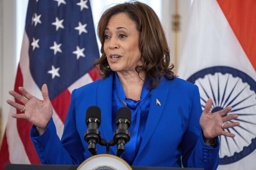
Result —
[[[200, 126], [203, 130], [204, 138], [211, 139], [220, 135], [231, 138], [235, 137], [234, 133], [229, 133], [224, 130], [239, 125], [239, 122], [225, 123], [226, 121], [238, 118], [238, 115], [236, 114], [227, 115], [227, 113], [231, 111], [232, 107], [226, 107], [218, 112], [210, 113], [211, 107], [212, 99], [209, 98], [200, 117]], [[224, 129], [222, 128], [222, 124]]]

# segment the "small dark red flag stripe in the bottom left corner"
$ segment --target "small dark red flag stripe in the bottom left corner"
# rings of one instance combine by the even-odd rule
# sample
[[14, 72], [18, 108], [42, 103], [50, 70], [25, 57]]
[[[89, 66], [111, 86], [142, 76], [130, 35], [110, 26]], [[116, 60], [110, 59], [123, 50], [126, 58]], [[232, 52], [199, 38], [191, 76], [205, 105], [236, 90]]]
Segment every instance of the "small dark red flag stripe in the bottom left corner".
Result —
[[4, 170], [5, 165], [11, 163], [9, 160], [9, 150], [8, 150], [8, 144], [7, 144], [7, 138], [6, 138], [6, 131], [3, 136], [0, 155], [1, 155], [0, 170]]

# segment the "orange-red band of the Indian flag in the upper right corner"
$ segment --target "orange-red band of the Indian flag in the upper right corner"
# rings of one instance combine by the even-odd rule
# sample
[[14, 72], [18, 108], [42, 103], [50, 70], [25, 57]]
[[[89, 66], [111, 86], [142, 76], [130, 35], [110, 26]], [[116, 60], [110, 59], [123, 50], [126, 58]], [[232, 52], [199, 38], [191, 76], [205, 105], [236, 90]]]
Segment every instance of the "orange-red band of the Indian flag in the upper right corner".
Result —
[[256, 70], [256, 0], [217, 0]]

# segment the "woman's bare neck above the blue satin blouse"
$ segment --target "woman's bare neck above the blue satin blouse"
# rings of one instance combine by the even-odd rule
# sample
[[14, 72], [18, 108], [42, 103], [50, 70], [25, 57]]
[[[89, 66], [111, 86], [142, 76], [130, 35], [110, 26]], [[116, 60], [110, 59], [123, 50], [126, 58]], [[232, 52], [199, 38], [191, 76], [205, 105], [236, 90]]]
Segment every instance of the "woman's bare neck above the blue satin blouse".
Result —
[[138, 72], [117, 72], [117, 74], [126, 98], [139, 101], [145, 79], [144, 72], [140, 73], [140, 77], [138, 76]]

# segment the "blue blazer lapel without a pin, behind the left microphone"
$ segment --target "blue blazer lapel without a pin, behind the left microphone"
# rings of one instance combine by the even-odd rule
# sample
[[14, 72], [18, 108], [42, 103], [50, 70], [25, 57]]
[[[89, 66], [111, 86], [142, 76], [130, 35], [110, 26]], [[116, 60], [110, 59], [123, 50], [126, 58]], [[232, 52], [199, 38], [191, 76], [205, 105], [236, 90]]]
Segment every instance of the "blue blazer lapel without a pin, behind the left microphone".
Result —
[[101, 110], [101, 138], [109, 142], [113, 138], [112, 130], [112, 84], [113, 74], [102, 79], [97, 92], [97, 105]]

